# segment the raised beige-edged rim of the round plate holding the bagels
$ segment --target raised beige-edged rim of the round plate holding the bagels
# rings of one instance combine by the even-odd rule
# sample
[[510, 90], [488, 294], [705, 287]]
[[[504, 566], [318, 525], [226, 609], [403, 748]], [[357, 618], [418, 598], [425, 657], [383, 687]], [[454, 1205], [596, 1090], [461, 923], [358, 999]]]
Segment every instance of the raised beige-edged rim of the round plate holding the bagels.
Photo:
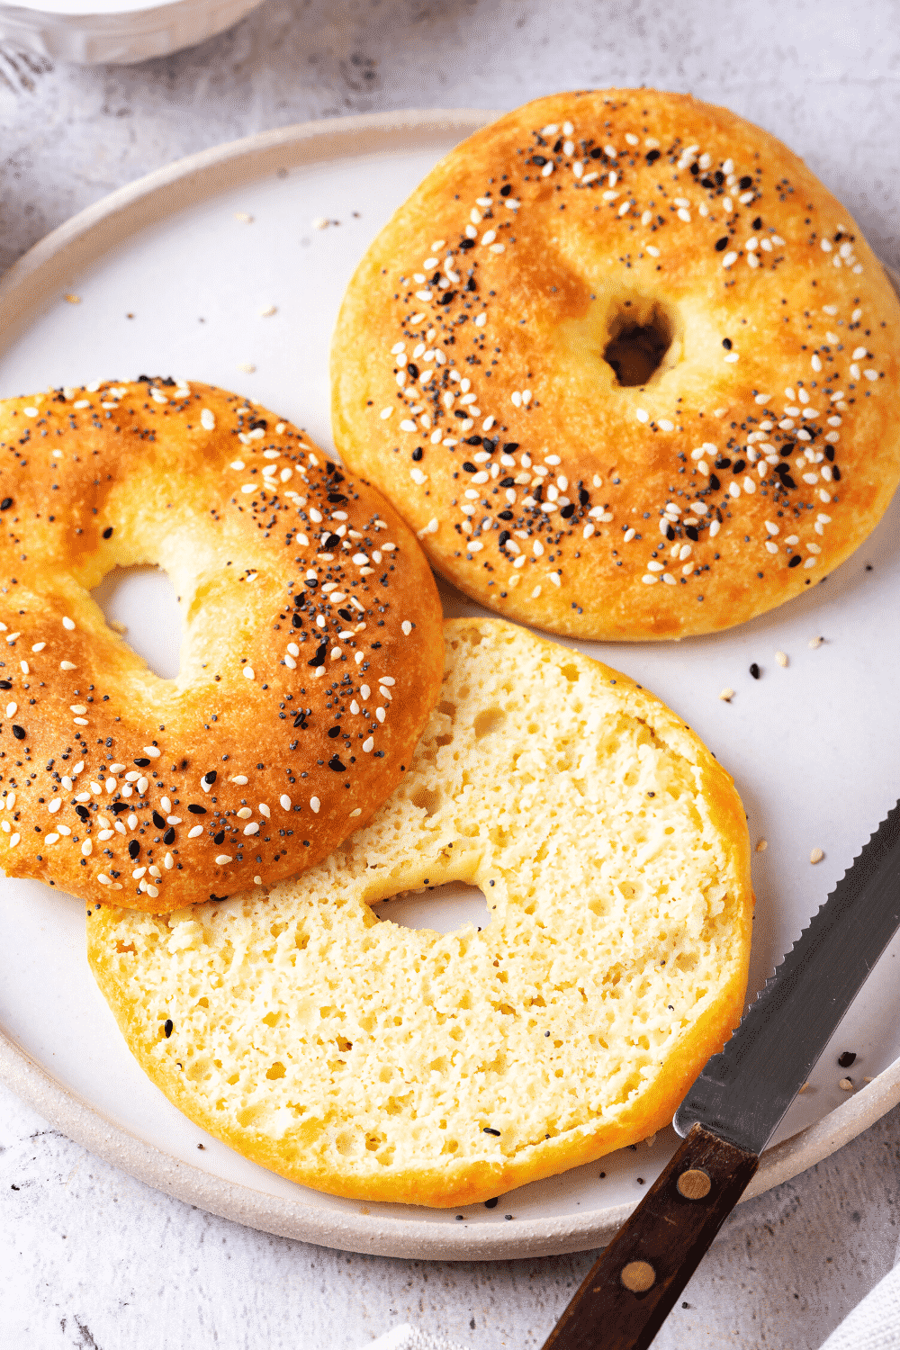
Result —
[[[162, 165], [63, 221], [0, 277], [0, 358], [22, 328], [62, 300], [67, 274], [175, 211], [259, 181], [269, 170], [283, 167], [282, 159], [298, 167], [348, 151], [359, 155], [393, 144], [409, 148], [409, 139], [417, 135], [422, 140], [441, 131], [466, 135], [497, 116], [497, 111], [476, 108], [401, 108], [327, 117], [255, 132]], [[900, 290], [900, 277], [891, 267], [885, 271]], [[344, 1251], [433, 1261], [503, 1261], [586, 1251], [602, 1246], [638, 1203], [521, 1219], [511, 1227], [464, 1224], [461, 1230], [421, 1219], [325, 1211], [300, 1197], [289, 1200], [227, 1181], [157, 1149], [63, 1087], [3, 1027], [0, 1081], [81, 1148], [165, 1195], [251, 1228]], [[741, 1203], [827, 1158], [897, 1103], [900, 1057], [815, 1125], [766, 1149]]]

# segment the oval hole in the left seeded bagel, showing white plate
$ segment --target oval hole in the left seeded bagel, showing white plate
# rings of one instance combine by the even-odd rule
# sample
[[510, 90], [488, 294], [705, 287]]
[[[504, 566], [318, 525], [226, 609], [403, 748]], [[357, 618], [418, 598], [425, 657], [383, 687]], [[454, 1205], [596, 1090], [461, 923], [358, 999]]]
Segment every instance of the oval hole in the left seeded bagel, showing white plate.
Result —
[[166, 572], [159, 567], [113, 567], [92, 595], [109, 628], [154, 675], [175, 679], [181, 668], [181, 612]]

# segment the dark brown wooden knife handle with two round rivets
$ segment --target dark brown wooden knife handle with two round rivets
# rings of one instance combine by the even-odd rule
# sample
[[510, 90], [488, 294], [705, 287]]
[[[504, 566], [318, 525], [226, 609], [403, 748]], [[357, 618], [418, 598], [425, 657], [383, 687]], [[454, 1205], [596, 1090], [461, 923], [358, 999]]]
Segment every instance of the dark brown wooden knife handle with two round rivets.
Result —
[[544, 1350], [645, 1350], [760, 1158], [702, 1125], [619, 1228]]

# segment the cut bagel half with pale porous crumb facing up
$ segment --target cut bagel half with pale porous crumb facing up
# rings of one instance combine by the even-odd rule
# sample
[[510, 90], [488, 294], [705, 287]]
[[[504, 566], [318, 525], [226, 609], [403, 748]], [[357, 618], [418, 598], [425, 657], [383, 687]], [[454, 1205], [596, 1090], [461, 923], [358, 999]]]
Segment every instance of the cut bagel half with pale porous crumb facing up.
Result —
[[[267, 895], [89, 922], [132, 1052], [193, 1120], [308, 1185], [430, 1206], [671, 1119], [739, 1018], [753, 899], [731, 779], [658, 699], [502, 621], [445, 641], [410, 771], [344, 848]], [[370, 907], [448, 880], [487, 927]]]

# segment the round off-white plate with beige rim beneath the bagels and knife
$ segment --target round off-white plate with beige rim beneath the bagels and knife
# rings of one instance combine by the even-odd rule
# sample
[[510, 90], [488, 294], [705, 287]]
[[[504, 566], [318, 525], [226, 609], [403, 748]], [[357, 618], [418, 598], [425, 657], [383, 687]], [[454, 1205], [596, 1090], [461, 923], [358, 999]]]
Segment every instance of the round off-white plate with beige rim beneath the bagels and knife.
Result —
[[[171, 371], [247, 393], [331, 444], [328, 344], [347, 279], [425, 171], [487, 117], [407, 112], [285, 128], [113, 193], [0, 282], [0, 394]], [[332, 224], [313, 228], [316, 217]], [[67, 304], [66, 294], [80, 302]], [[271, 305], [277, 313], [263, 317]], [[677, 645], [572, 644], [660, 694], [734, 774], [753, 841], [768, 840], [754, 855], [752, 991], [900, 796], [899, 521], [895, 502], [824, 585], [731, 632]], [[165, 578], [142, 572], [117, 590], [107, 585], [104, 603], [167, 674], [177, 617]], [[449, 589], [445, 605], [448, 613], [478, 612]], [[826, 641], [811, 649], [818, 636]], [[776, 651], [788, 653], [787, 670]], [[758, 680], [752, 662], [762, 668]], [[718, 698], [726, 684], [737, 690], [730, 703]], [[824, 860], [811, 867], [816, 846]], [[449, 905], [443, 922], [459, 922]], [[77, 902], [38, 883], [0, 880], [0, 925], [7, 1081], [92, 1152], [242, 1223], [405, 1257], [583, 1250], [609, 1237], [672, 1153], [669, 1130], [652, 1148], [524, 1187], [494, 1210], [459, 1211], [461, 1219], [308, 1191], [204, 1135], [144, 1077], [89, 975]], [[776, 1137], [783, 1142], [765, 1154], [748, 1195], [826, 1157], [900, 1100], [899, 954], [900, 940], [788, 1112]], [[850, 1076], [860, 1089], [850, 1098], [838, 1087], [843, 1049], [857, 1052]], [[865, 1077], [874, 1081], [864, 1087]]]

